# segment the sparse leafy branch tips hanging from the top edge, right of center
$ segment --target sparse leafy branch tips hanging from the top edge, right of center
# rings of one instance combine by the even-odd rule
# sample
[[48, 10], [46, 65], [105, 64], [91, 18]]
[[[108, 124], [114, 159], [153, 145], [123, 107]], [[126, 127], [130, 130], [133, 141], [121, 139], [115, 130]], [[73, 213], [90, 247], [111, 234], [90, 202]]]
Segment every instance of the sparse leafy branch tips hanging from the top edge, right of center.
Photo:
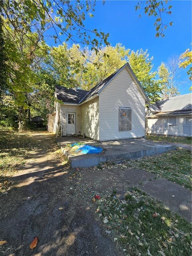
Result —
[[[169, 22], [168, 24], [163, 23], [163, 14], [171, 15], [171, 8], [172, 5], [169, 5], [168, 7], [165, 7], [165, 5], [168, 3], [168, 0], [166, 1], [156, 1], [156, 0], [147, 0], [147, 1], [140, 1], [135, 6], [135, 10], [142, 10], [144, 11], [144, 14], [148, 17], [155, 17], [154, 27], [156, 28], [156, 34], [155, 37], [165, 37], [164, 31], [167, 29], [168, 26], [172, 26], [173, 22]], [[139, 18], [141, 17], [141, 14], [139, 15]]]

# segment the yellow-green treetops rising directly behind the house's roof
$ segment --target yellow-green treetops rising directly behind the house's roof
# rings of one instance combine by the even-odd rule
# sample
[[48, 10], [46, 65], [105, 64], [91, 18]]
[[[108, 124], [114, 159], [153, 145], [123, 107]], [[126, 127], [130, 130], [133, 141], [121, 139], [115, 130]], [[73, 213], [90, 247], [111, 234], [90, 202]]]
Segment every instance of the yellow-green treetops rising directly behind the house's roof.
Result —
[[[153, 57], [149, 57], [147, 50], [130, 52], [130, 49], [117, 44], [115, 47], [103, 47], [96, 54], [85, 47], [80, 49], [84, 53], [83, 57], [79, 52], [80, 46], [73, 44], [69, 48], [65, 44], [67, 52], [63, 48], [64, 46], [53, 47], [52, 57], [48, 61], [50, 70], [61, 85], [90, 90], [129, 62], [151, 101], [159, 99], [161, 86], [155, 79], [157, 72], [152, 72]], [[71, 56], [71, 59], [68, 56]], [[78, 65], [75, 65], [76, 63]]]

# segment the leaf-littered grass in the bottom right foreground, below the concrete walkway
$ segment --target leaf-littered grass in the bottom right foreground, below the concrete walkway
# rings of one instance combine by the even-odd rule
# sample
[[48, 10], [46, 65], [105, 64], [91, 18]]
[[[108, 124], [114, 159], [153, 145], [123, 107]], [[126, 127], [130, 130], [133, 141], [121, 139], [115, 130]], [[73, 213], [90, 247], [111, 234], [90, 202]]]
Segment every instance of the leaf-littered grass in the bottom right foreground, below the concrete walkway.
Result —
[[[129, 256], [191, 255], [191, 225], [137, 188], [120, 200], [113, 192], [97, 209], [106, 234]], [[155, 214], [155, 215], [154, 215]]]

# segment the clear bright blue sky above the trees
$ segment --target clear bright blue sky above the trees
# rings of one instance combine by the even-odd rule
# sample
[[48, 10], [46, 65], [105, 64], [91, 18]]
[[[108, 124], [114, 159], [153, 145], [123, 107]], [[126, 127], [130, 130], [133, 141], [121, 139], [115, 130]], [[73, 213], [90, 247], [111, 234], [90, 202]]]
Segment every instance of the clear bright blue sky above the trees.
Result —
[[[109, 42], [112, 46], [121, 43], [127, 49], [148, 49], [153, 56], [153, 71], [157, 70], [161, 62], [167, 62], [172, 56], [180, 56], [187, 48], [191, 48], [191, 1], [169, 1], [172, 5], [171, 15], [164, 15], [163, 22], [173, 21], [165, 31], [164, 38], [155, 38], [155, 18], [148, 17], [140, 11], [135, 11], [139, 1], [96, 1], [94, 17], [87, 16], [84, 22], [87, 29], [98, 29], [109, 33]], [[139, 18], [141, 13], [142, 17]], [[189, 68], [188, 68], [189, 69]], [[181, 70], [180, 79], [184, 81], [179, 86], [181, 94], [189, 92], [190, 81], [187, 70]]]

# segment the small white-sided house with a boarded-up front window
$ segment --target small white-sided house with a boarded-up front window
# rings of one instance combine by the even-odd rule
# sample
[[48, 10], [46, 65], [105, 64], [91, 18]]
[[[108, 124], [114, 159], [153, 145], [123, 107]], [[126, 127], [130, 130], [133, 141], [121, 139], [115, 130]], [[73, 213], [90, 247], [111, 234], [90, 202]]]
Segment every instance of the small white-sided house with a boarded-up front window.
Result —
[[128, 63], [90, 91], [57, 86], [55, 97], [53, 131], [60, 127], [61, 136], [97, 141], [144, 137], [148, 97]]

